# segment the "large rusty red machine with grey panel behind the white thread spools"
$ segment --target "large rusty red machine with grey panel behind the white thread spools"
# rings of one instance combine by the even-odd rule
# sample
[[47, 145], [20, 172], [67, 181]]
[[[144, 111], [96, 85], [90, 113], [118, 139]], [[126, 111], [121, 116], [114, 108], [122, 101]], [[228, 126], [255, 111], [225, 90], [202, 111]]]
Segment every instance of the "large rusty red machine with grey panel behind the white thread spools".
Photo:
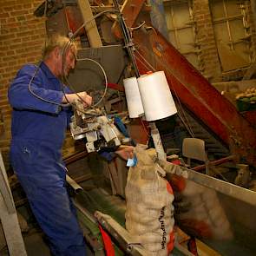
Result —
[[[113, 5], [104, 7], [102, 4], [99, 3], [98, 7], [96, 5], [92, 9], [98, 13], [96, 23], [101, 28], [101, 35], [98, 28], [90, 24], [92, 12], [87, 14], [90, 16], [84, 16], [86, 14], [81, 11], [79, 1], [51, 1], [48, 4], [46, 13], [49, 18], [46, 25], [49, 35], [56, 32], [72, 35], [77, 31], [75, 34], [81, 38], [82, 49], [78, 51], [75, 72], [69, 75], [69, 82], [74, 88], [99, 89], [103, 84], [102, 70], [95, 63], [87, 62], [86, 59], [89, 58], [102, 63], [102, 68], [108, 75], [108, 89], [119, 91], [123, 91], [123, 88], [116, 84], [121, 83], [125, 72], [132, 72], [129, 76], [138, 76], [148, 71], [163, 70], [178, 102], [178, 115], [182, 117], [185, 127], [193, 130], [189, 134], [206, 141], [208, 152], [220, 151], [217, 159], [233, 155], [237, 162], [255, 166], [255, 129], [185, 57], [157, 30], [152, 29], [145, 1], [136, 2], [136, 11], [132, 1], [126, 1], [122, 6], [121, 20], [125, 19], [127, 28], [133, 29], [132, 36], [130, 33], [124, 35], [124, 48], [121, 47], [121, 30], [115, 20], [111, 30], [116, 10]], [[43, 7], [44, 4], [36, 10], [37, 16], [43, 15]], [[99, 15], [101, 11], [102, 14]], [[82, 23], [85, 31], [81, 29]], [[138, 28], [132, 28], [138, 24], [141, 24]], [[90, 27], [87, 28], [88, 26]], [[97, 36], [90, 36], [93, 31]], [[135, 56], [135, 60], [130, 56]], [[128, 64], [127, 57], [131, 59], [131, 65]], [[82, 75], [87, 78], [86, 87]]]

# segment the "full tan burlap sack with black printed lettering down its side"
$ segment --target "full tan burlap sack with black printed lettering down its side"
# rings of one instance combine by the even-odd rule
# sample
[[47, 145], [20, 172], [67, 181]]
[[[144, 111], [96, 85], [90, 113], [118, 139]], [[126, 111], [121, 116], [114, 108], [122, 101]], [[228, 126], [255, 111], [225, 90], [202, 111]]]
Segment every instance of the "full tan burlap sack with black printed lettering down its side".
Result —
[[137, 146], [135, 154], [138, 163], [130, 167], [125, 188], [126, 228], [150, 255], [167, 255], [174, 246], [174, 194], [145, 148]]

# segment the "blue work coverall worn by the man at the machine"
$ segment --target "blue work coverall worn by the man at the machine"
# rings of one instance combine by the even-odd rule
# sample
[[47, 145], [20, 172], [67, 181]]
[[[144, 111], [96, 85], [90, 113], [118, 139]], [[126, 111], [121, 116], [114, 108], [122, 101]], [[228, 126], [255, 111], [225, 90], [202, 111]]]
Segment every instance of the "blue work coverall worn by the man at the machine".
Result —
[[44, 102], [32, 95], [61, 103], [62, 85], [44, 62], [23, 66], [10, 85], [12, 112], [10, 158], [30, 207], [43, 232], [49, 237], [51, 252], [57, 256], [85, 256], [82, 230], [66, 189], [62, 163], [62, 143], [71, 109]]

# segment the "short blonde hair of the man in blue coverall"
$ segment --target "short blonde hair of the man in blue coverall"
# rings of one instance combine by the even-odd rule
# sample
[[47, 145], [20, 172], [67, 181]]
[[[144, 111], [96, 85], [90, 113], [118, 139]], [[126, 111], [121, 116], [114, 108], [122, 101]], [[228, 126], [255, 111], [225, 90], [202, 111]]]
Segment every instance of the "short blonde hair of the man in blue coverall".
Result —
[[52, 35], [49, 36], [45, 42], [45, 45], [43, 47], [42, 56], [43, 59], [47, 59], [49, 57], [49, 54], [58, 47], [61, 50], [61, 54], [64, 50], [67, 49], [76, 49], [76, 45], [74, 41], [70, 41], [68, 37], [66, 36], [60, 36], [60, 35]]

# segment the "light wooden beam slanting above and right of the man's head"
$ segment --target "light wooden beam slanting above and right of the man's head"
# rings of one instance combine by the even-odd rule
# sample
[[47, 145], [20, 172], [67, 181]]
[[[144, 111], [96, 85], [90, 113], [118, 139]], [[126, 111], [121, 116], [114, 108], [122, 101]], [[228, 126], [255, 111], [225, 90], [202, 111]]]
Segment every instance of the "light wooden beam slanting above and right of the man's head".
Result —
[[[93, 17], [93, 13], [89, 5], [89, 0], [78, 0], [77, 3], [82, 13], [83, 23], [86, 23]], [[95, 20], [87, 23], [84, 28], [89, 39], [90, 47], [102, 47], [102, 39], [97, 29]]]

